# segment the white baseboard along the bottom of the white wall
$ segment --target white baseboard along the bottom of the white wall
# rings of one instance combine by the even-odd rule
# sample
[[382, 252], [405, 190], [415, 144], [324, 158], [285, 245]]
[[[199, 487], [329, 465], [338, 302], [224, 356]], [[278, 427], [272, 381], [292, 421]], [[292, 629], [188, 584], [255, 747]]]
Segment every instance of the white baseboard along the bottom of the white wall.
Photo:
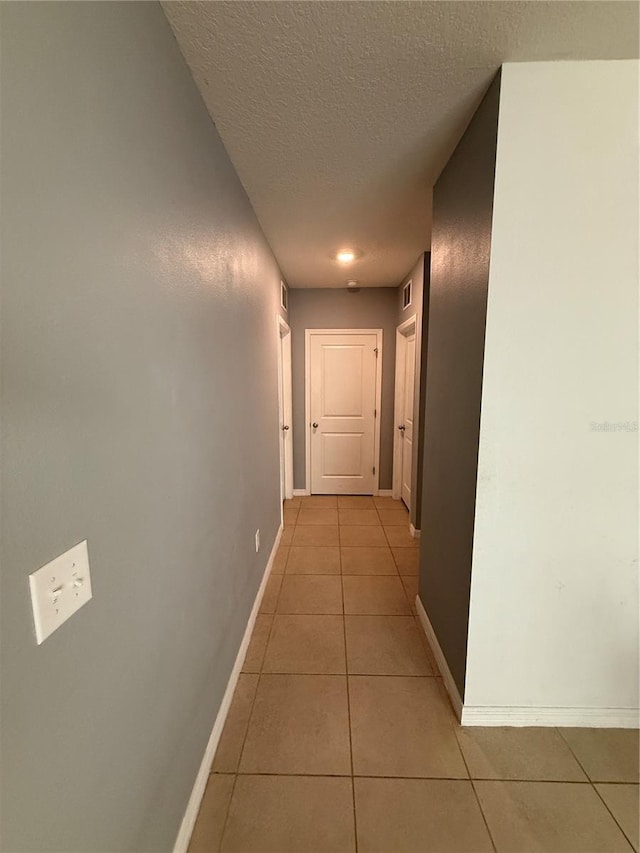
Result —
[[560, 728], [637, 729], [633, 708], [510, 708], [465, 705], [463, 726], [558, 726]]

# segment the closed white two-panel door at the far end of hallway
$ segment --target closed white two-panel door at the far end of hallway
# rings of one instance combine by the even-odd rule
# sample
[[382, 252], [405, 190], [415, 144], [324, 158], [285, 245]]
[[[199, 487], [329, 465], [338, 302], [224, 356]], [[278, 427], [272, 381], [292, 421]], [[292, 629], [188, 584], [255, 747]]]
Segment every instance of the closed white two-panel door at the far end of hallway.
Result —
[[311, 493], [371, 495], [381, 333], [307, 335]]

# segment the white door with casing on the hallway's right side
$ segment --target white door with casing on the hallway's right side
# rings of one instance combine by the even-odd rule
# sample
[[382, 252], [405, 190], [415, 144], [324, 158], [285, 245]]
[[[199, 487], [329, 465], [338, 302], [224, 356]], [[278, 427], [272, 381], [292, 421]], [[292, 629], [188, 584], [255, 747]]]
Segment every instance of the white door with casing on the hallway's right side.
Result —
[[411, 510], [413, 477], [413, 433], [416, 402], [416, 318], [396, 330], [395, 430], [393, 453], [393, 497], [401, 498]]

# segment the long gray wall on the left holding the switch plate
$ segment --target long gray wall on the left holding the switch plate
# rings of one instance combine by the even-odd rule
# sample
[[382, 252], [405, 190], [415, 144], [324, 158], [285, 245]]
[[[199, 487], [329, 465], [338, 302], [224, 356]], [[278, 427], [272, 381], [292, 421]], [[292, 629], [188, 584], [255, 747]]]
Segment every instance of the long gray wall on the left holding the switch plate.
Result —
[[279, 525], [279, 272], [159, 5], [0, 14], [2, 849], [170, 850]]

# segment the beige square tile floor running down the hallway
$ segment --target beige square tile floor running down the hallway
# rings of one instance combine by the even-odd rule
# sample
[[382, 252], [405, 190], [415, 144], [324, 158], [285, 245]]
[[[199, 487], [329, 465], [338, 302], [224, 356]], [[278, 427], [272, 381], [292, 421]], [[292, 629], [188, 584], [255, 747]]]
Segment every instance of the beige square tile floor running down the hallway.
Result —
[[457, 724], [398, 501], [284, 514], [190, 853], [638, 850], [637, 731]]

